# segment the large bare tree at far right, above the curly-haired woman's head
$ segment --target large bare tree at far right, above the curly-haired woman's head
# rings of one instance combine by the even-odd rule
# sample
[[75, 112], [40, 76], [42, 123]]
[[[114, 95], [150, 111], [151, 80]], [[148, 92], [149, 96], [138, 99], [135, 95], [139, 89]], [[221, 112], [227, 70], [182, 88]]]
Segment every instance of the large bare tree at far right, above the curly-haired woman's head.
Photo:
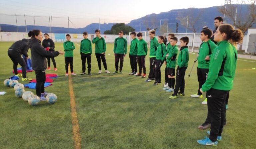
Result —
[[[224, 5], [219, 8], [219, 12], [228, 17], [234, 27], [245, 33], [256, 21], [256, 0], [242, 1], [241, 4], [248, 4], [247, 14], [242, 14], [243, 5], [237, 4]], [[239, 50], [242, 50], [242, 45]]]

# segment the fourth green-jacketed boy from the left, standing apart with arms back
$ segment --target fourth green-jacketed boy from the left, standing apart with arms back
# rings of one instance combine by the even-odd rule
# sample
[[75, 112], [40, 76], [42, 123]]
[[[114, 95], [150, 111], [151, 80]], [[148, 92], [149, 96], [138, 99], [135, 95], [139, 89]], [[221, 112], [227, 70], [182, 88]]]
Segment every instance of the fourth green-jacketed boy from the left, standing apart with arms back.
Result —
[[115, 55], [115, 66], [116, 66], [116, 71], [114, 71], [114, 74], [118, 72], [119, 60], [120, 60], [120, 67], [119, 67], [120, 74], [124, 74], [122, 72], [122, 69], [123, 69], [124, 57], [127, 53], [127, 40], [123, 37], [124, 35], [123, 31], [119, 31], [118, 35], [119, 37], [115, 38], [115, 42], [114, 42], [114, 55]]

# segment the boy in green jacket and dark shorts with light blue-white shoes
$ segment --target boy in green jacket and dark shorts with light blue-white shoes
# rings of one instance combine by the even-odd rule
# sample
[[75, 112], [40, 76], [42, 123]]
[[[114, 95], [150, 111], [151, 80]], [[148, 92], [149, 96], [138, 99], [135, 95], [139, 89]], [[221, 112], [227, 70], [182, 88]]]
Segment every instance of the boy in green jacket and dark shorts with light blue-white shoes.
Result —
[[167, 74], [168, 74], [168, 86], [166, 87], [166, 92], [173, 92], [175, 85], [175, 67], [177, 65], [176, 57], [178, 54], [178, 46], [176, 45], [178, 42], [177, 37], [172, 37], [170, 39], [171, 48], [169, 49], [169, 53], [166, 54], [167, 61]]

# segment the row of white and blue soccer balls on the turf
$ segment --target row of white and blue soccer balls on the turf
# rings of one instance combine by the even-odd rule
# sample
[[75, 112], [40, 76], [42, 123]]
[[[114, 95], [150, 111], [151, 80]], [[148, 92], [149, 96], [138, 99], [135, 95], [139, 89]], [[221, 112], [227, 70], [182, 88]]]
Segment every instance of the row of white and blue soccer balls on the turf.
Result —
[[[31, 91], [25, 91], [24, 85], [19, 83], [17, 80], [6, 79], [4, 80], [4, 85], [8, 87], [12, 87], [15, 90], [15, 96], [18, 98], [22, 98], [24, 101], [27, 101], [31, 106], [37, 106], [40, 102], [40, 98], [33, 94]], [[48, 104], [54, 104], [57, 102], [57, 96], [53, 93], [49, 93], [46, 95], [46, 101]]]

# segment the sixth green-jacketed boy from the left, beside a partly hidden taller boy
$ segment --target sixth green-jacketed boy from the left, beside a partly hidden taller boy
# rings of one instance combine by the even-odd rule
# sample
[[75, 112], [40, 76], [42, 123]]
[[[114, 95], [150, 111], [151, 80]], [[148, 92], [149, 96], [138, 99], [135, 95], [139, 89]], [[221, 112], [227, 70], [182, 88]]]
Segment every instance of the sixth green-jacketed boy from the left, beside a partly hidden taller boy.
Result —
[[135, 75], [136, 77], [141, 76], [142, 68], [143, 68], [143, 76], [142, 78], [146, 77], [146, 55], [148, 54], [148, 45], [145, 40], [142, 39], [142, 33], [137, 34], [138, 42], [137, 42], [137, 55], [138, 55], [138, 64], [139, 64], [139, 73]]

